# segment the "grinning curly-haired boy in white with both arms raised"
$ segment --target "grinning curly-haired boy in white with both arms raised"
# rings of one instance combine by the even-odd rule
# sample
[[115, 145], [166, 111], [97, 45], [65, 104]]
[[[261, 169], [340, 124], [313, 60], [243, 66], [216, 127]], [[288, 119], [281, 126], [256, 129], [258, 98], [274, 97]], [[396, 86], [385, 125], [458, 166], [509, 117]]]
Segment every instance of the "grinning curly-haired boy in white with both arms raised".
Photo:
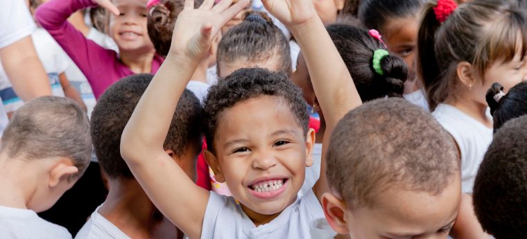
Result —
[[[247, 3], [229, 7], [230, 1], [222, 0], [213, 8], [214, 1], [205, 0], [193, 10], [192, 1], [187, 1], [175, 24], [178, 37], [173, 38], [171, 57], [132, 114], [121, 154], [157, 207], [189, 238], [309, 238], [309, 222], [322, 218], [318, 197], [327, 185], [320, 177], [313, 186], [316, 193], [297, 198], [304, 168], [311, 165], [314, 132], [307, 128], [309, 116], [300, 89], [284, 73], [240, 69], [211, 87], [205, 100], [209, 147], [205, 155], [216, 179], [227, 182], [234, 198], [194, 185], [159, 151], [169, 125], [166, 109], [178, 103], [221, 26]], [[264, 6], [292, 30], [306, 52], [329, 122], [360, 105], [311, 0], [264, 1]], [[329, 67], [334, 71], [328, 72]], [[334, 84], [321, 87], [325, 78]]]

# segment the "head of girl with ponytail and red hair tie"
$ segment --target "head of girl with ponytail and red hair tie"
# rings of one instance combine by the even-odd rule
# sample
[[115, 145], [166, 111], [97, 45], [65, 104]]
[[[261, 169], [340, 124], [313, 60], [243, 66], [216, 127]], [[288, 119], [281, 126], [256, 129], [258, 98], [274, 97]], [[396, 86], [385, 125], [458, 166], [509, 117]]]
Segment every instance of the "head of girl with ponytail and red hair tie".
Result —
[[527, 79], [527, 17], [517, 6], [471, 1], [450, 12], [444, 7], [453, 6], [451, 0], [439, 5], [426, 4], [418, 34], [417, 73], [431, 110], [445, 101], [486, 105], [492, 83], [508, 91]]

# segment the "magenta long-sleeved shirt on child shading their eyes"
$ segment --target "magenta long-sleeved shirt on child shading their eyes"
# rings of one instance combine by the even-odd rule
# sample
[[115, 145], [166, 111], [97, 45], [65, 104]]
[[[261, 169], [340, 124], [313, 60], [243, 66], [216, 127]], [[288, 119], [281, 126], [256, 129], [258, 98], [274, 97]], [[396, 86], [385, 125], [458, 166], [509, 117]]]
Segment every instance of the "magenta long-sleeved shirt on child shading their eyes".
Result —
[[[97, 99], [114, 82], [134, 73], [119, 60], [115, 51], [86, 39], [67, 21], [77, 10], [93, 6], [97, 4], [92, 0], [51, 0], [37, 9], [35, 17], [83, 71]], [[150, 73], [155, 73], [163, 60], [163, 57], [155, 55]]]

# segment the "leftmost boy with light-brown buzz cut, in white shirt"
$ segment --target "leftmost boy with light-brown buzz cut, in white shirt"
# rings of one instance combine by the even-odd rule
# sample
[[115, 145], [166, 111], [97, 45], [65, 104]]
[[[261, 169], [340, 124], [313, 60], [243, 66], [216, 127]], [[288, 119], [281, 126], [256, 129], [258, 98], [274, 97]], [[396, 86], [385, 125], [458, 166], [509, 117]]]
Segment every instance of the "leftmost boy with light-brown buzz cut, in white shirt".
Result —
[[67, 98], [43, 96], [13, 114], [0, 151], [0, 234], [71, 238], [39, 218], [79, 179], [92, 155], [89, 121]]

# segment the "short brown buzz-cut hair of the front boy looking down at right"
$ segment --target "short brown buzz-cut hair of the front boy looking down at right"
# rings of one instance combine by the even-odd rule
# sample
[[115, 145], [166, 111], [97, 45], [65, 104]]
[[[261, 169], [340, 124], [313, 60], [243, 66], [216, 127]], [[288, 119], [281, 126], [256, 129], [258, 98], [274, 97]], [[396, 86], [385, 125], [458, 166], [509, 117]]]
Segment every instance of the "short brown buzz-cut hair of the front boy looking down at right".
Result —
[[327, 178], [349, 209], [377, 204], [391, 186], [437, 195], [460, 175], [456, 145], [428, 112], [407, 100], [372, 100], [331, 134]]

